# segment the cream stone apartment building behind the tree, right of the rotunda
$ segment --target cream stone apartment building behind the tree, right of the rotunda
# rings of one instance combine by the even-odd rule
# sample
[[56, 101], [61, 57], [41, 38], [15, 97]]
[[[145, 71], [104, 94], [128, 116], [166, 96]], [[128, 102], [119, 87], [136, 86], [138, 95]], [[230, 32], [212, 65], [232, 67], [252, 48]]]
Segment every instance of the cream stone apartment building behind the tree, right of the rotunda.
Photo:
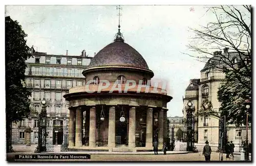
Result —
[[[222, 52], [215, 52], [221, 54]], [[229, 52], [224, 49], [224, 54], [228, 54], [232, 63], [237, 63], [239, 57], [237, 53]], [[201, 70], [200, 79], [191, 79], [185, 90], [185, 98], [183, 98], [183, 114], [186, 117], [186, 106], [190, 101], [195, 106], [196, 115], [198, 111], [203, 111], [203, 104], [208, 101], [211, 105], [211, 111], [220, 114], [221, 103], [218, 101], [218, 88], [225, 83], [225, 74], [220, 69], [210, 67], [214, 60], [209, 59]], [[198, 115], [196, 130], [198, 131], [198, 145], [204, 145], [208, 140], [210, 145], [219, 145], [219, 118], [210, 115]], [[241, 146], [245, 140], [245, 126], [236, 128], [234, 125], [227, 127], [228, 141], [233, 141], [235, 145]], [[251, 131], [248, 132], [249, 143], [251, 142]]]

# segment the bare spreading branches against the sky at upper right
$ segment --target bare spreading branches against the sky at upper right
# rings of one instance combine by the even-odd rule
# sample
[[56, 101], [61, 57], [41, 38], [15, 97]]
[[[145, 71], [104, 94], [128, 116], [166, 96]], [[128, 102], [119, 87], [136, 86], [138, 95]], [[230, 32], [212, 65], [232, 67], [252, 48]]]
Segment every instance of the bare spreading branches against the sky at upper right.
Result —
[[[197, 55], [184, 53], [199, 61], [212, 60], [214, 68], [233, 70], [244, 75], [232, 62], [235, 52], [246, 69], [246, 77], [251, 76], [247, 61], [251, 60], [251, 6], [207, 7], [206, 13], [215, 15], [215, 22], [208, 22], [200, 29], [190, 28], [195, 35], [187, 45], [189, 51]], [[224, 53], [222, 50], [224, 49]]]

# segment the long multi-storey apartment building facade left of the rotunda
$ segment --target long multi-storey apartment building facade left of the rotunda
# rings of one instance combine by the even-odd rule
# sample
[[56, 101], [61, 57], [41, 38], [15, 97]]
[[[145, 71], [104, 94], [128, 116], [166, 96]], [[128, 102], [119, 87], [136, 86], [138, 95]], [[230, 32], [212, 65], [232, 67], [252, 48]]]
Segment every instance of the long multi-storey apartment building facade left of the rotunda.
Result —
[[25, 83], [31, 90], [32, 113], [23, 121], [12, 125], [12, 144], [25, 144], [25, 130], [29, 126], [31, 132], [31, 144], [38, 141], [38, 114], [41, 110], [41, 100], [46, 100], [49, 131], [48, 141], [52, 144], [62, 144], [63, 135], [67, 134], [69, 124], [69, 102], [63, 98], [69, 93], [69, 89], [83, 86], [86, 80], [82, 70], [86, 68], [92, 57], [86, 55], [83, 50], [79, 56], [49, 55], [47, 53], [35, 52], [31, 48], [33, 57], [26, 61]]

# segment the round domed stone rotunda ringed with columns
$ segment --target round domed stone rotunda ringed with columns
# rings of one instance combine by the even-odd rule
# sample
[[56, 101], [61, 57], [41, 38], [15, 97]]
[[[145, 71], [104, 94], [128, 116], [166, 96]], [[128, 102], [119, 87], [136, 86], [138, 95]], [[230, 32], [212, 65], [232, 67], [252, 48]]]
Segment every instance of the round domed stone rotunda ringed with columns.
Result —
[[120, 33], [82, 72], [86, 85], [73, 87], [69, 101], [69, 150], [152, 151], [167, 138], [167, 91], [151, 85], [144, 58]]

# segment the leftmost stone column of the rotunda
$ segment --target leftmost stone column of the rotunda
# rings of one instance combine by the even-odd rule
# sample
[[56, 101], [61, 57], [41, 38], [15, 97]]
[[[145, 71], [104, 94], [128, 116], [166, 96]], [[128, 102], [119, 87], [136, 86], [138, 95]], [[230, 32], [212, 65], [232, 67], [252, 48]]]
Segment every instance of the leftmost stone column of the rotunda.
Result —
[[69, 110], [69, 146], [75, 146], [75, 110]]

